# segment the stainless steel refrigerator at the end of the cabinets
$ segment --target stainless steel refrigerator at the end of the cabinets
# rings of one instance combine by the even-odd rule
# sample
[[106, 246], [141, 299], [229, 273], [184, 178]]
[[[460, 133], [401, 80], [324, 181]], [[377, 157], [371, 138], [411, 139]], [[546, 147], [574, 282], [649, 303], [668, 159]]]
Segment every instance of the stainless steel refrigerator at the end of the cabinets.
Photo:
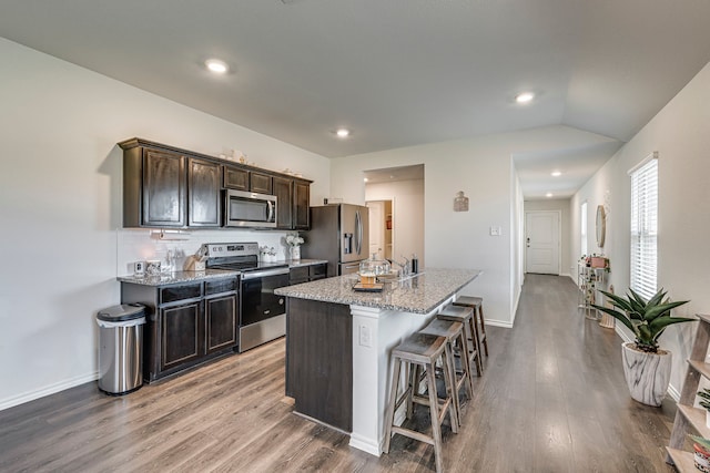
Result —
[[311, 229], [304, 232], [302, 258], [327, 259], [327, 276], [357, 273], [369, 251], [369, 209], [362, 205], [311, 207]]

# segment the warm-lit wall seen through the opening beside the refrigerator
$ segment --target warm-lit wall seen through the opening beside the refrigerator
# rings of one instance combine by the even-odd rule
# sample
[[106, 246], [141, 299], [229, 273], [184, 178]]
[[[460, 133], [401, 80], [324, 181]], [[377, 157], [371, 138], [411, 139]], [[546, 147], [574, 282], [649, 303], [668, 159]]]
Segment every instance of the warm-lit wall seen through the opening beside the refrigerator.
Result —
[[375, 183], [365, 186], [366, 200], [393, 200], [393, 259], [403, 261], [416, 254], [426, 265], [424, 254], [424, 179]]

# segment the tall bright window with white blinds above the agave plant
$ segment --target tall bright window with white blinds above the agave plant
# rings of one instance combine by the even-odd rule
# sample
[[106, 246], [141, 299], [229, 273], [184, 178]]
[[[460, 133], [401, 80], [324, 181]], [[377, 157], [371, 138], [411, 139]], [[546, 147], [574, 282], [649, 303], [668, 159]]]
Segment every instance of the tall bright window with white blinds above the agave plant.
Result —
[[653, 153], [631, 175], [631, 289], [650, 298], [657, 290], [658, 158]]

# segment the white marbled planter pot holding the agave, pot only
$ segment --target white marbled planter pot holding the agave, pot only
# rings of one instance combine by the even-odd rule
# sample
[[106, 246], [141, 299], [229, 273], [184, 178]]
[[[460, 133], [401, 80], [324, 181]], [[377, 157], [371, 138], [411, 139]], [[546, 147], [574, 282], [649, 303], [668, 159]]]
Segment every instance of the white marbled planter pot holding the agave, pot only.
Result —
[[621, 345], [623, 374], [631, 398], [647, 405], [661, 405], [670, 382], [672, 354], [667, 350], [663, 353], [637, 351], [633, 346]]

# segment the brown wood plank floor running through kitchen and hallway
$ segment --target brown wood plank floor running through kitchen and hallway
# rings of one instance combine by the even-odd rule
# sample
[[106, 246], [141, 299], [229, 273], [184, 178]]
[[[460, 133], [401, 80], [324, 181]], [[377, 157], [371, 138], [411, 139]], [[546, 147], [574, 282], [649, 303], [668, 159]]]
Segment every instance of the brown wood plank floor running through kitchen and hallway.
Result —
[[[489, 358], [463, 428], [444, 428], [453, 472], [671, 472], [674, 402], [631, 400], [621, 340], [577, 310], [569, 278], [528, 275], [515, 327]], [[430, 472], [433, 449], [396, 435], [375, 457], [292, 413], [284, 341], [121, 398], [84, 384], [0, 412], [4, 472]], [[428, 414], [419, 409], [414, 422]]]

